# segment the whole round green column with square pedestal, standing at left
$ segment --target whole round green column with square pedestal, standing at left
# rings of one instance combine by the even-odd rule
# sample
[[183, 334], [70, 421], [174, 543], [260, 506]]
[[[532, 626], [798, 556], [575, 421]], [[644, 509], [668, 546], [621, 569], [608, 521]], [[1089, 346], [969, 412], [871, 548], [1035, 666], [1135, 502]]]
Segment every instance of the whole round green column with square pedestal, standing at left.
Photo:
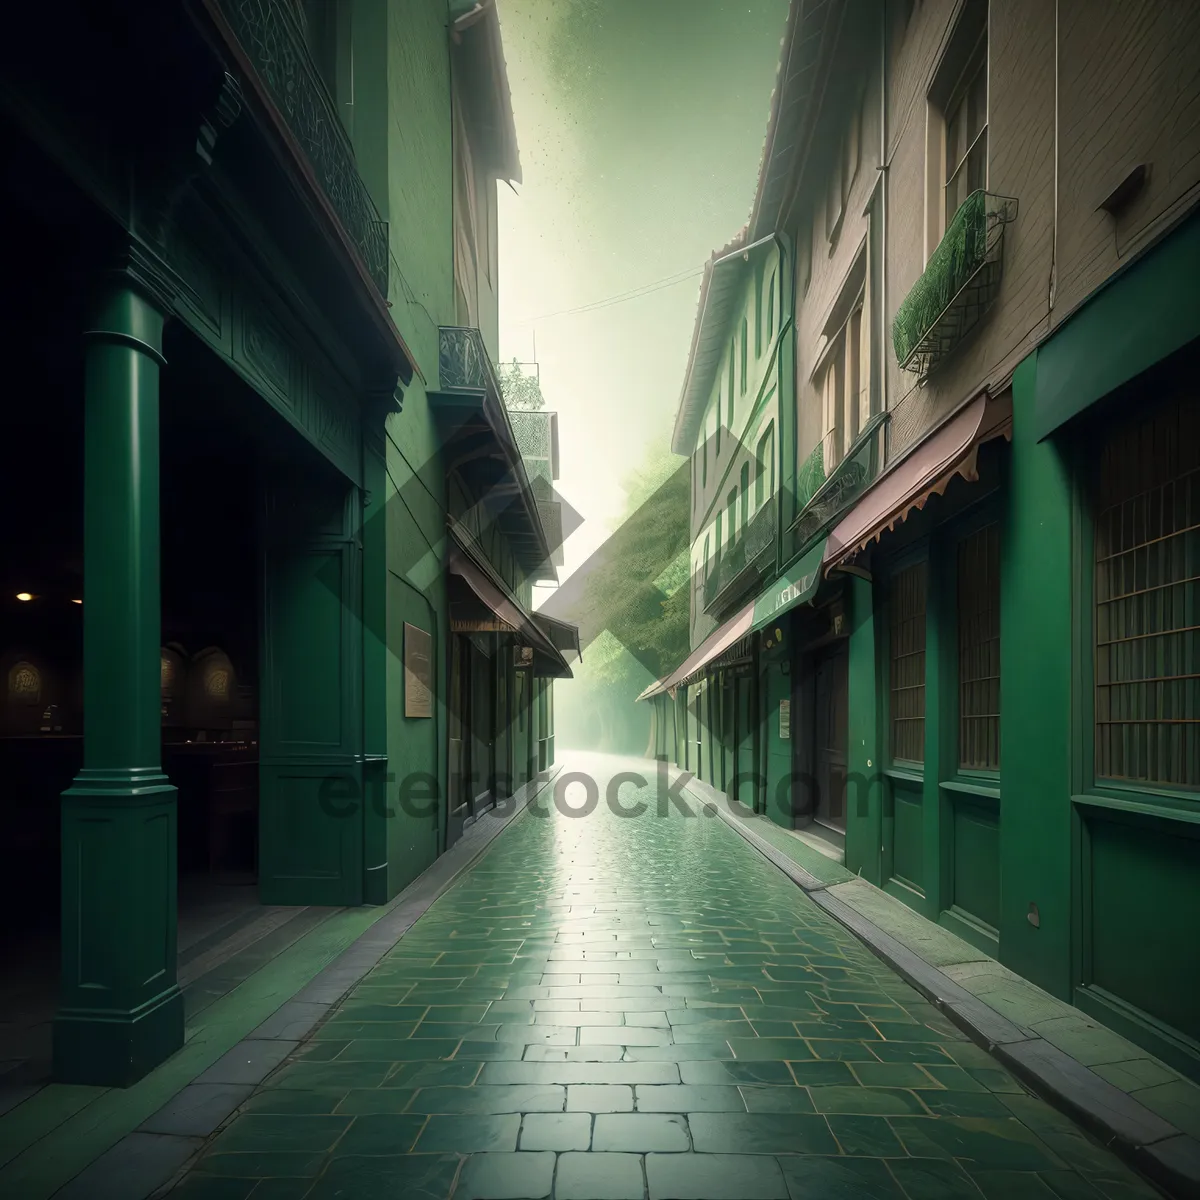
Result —
[[134, 251], [106, 280], [84, 335], [84, 760], [62, 796], [62, 1082], [128, 1086], [184, 1043], [158, 658], [168, 306], [161, 270]]

